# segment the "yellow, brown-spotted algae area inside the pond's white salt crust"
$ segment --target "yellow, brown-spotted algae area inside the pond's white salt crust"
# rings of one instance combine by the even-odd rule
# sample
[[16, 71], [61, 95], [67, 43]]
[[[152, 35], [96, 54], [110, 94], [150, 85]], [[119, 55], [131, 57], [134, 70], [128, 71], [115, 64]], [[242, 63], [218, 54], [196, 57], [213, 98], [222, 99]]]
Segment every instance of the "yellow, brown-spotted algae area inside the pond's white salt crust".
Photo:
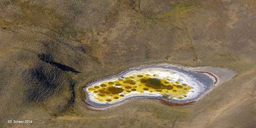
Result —
[[186, 94], [193, 88], [187, 84], [180, 84], [178, 81], [168, 82], [167, 78], [159, 79], [156, 74], [140, 73], [124, 77], [124, 79], [103, 82], [89, 87], [87, 90], [95, 94], [93, 99], [100, 102], [110, 102], [124, 99], [124, 95], [132, 92], [144, 93], [145, 91], [157, 92], [165, 97], [183, 99], [187, 97]]

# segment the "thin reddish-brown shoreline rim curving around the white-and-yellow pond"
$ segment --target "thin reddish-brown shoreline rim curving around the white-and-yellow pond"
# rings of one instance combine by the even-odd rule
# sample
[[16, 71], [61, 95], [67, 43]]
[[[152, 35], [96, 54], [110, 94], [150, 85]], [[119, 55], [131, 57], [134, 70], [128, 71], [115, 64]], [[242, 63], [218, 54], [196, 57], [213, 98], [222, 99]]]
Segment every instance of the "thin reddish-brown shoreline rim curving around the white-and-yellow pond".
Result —
[[[131, 67], [131, 68], [145, 68], [145, 67], [152, 67], [152, 66], [168, 66], [168, 67], [171, 67], [171, 68], [180, 68], [180, 69], [184, 69], [184, 70], [187, 70], [185, 68], [182, 68], [182, 67], [174, 67], [174, 66], [170, 66], [170, 65], [164, 65], [164, 64], [155, 64], [155, 65], [142, 65], [142, 66], [139, 66], [139, 67]], [[178, 65], [177, 65], [178, 66]], [[98, 80], [102, 80], [102, 79], [106, 79], [106, 78], [109, 78], [109, 77], [112, 77], [112, 76], [119, 76], [120, 74], [130, 70], [131, 68], [127, 68], [126, 70], [123, 70], [115, 75], [111, 75], [111, 76], [106, 76], [106, 77], [102, 77], [102, 78], [98, 78], [98, 79], [94, 79], [90, 82], [88, 82], [86, 85], [88, 84], [91, 84], [92, 82], [95, 82], [95, 81], [98, 81]], [[204, 74], [208, 74], [210, 76], [212, 76], [214, 79], [215, 79], [215, 82], [213, 83], [213, 88], [215, 87], [216, 83], [218, 82], [218, 78], [216, 76], [214, 76], [212, 73], [210, 72], [205, 72], [205, 71], [193, 71], [193, 70], [187, 70], [187, 71], [191, 71], [191, 72], [198, 72], [198, 73], [204, 73]], [[86, 87], [85, 86], [82, 86], [80, 91], [81, 91], [81, 99], [82, 99], [82, 103], [86, 106], [86, 108], [88, 109], [91, 109], [91, 110], [95, 110], [95, 111], [104, 111], [104, 110], [108, 110], [108, 109], [111, 109], [111, 108], [114, 108], [118, 105], [121, 105], [121, 104], [124, 104], [128, 101], [131, 101], [131, 100], [142, 100], [142, 99], [151, 99], [151, 100], [158, 100], [160, 101], [161, 103], [165, 104], [165, 105], [168, 105], [168, 106], [178, 106], [178, 107], [185, 107], [185, 106], [191, 106], [193, 104], [196, 103], [197, 100], [199, 100], [200, 98], [198, 98], [197, 100], [194, 100], [194, 101], [189, 101], [189, 102], [185, 102], [185, 103], [175, 103], [175, 102], [171, 102], [171, 101], [167, 101], [167, 100], [163, 100], [163, 99], [158, 99], [158, 98], [133, 98], [133, 99], [128, 99], [122, 103], [119, 103], [119, 104], [116, 104], [116, 105], [113, 105], [113, 106], [109, 106], [109, 107], [106, 107], [106, 108], [99, 108], [99, 107], [95, 107], [95, 106], [92, 106], [90, 104], [88, 104], [87, 102], [85, 102], [85, 93], [84, 93], [84, 88]]]

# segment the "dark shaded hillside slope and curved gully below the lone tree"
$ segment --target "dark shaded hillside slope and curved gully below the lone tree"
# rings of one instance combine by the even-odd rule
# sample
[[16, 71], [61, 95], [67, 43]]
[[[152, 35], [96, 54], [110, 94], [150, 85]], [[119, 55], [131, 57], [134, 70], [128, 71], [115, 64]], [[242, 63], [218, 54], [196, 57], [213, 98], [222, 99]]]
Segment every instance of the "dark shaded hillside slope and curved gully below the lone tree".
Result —
[[[27, 83], [27, 90], [25, 91], [25, 103], [42, 103], [57, 94], [63, 88], [69, 86], [69, 90], [72, 93], [71, 97], [68, 97], [67, 104], [60, 105], [56, 108], [61, 112], [68, 110], [68, 108], [75, 101], [75, 93], [73, 83], [67, 76], [67, 74], [56, 67], [52, 67], [48, 64], [41, 65], [32, 70], [23, 71], [23, 80]], [[63, 84], [66, 81], [66, 84]]]

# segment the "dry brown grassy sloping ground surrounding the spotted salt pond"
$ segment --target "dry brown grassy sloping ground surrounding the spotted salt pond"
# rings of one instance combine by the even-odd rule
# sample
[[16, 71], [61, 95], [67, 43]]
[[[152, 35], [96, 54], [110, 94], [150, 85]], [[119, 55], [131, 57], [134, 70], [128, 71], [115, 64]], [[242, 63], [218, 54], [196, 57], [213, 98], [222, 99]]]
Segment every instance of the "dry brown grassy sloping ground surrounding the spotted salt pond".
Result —
[[[0, 127], [255, 127], [255, 3], [2, 0]], [[90, 80], [162, 62], [237, 75], [191, 107], [134, 100], [95, 112], [81, 103]]]

